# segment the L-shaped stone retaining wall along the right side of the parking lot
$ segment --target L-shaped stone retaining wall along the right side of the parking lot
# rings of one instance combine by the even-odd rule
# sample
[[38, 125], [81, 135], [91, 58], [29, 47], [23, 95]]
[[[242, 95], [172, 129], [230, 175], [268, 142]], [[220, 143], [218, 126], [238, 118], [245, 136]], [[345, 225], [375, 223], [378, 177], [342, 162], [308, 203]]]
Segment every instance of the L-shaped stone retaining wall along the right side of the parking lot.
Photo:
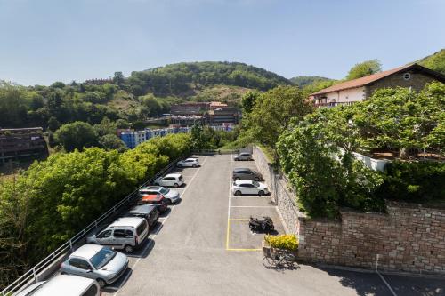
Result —
[[298, 212], [295, 195], [259, 148], [254, 158], [271, 186], [279, 212], [308, 262], [445, 275], [445, 209], [387, 202], [387, 213], [344, 209], [339, 220], [312, 220]]

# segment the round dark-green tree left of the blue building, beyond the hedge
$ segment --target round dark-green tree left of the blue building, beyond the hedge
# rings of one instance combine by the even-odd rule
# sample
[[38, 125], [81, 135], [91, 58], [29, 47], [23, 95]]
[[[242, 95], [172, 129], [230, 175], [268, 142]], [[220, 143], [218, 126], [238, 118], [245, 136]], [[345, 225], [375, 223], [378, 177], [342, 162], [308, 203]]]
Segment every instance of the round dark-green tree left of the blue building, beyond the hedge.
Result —
[[74, 149], [82, 150], [83, 148], [95, 146], [98, 140], [93, 126], [80, 121], [62, 125], [54, 133], [54, 137], [68, 152]]

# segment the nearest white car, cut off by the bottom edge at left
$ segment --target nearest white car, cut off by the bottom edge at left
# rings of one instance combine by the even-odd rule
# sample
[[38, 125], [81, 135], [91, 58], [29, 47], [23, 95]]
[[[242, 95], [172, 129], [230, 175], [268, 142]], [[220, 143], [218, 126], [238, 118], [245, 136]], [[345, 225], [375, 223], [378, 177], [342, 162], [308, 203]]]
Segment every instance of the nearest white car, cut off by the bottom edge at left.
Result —
[[54, 276], [49, 281], [31, 284], [15, 296], [99, 296], [101, 287], [91, 278], [82, 276]]

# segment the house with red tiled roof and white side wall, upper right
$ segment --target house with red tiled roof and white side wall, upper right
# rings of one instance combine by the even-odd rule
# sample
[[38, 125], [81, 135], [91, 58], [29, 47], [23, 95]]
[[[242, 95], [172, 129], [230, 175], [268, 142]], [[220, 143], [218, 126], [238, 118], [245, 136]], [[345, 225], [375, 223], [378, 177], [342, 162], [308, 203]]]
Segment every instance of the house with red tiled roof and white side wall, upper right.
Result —
[[420, 91], [425, 84], [433, 81], [445, 83], [445, 76], [429, 68], [411, 64], [341, 84], [334, 84], [319, 92], [312, 93], [310, 100], [313, 100], [315, 107], [352, 105], [358, 101], [368, 99], [380, 88], [401, 86]]

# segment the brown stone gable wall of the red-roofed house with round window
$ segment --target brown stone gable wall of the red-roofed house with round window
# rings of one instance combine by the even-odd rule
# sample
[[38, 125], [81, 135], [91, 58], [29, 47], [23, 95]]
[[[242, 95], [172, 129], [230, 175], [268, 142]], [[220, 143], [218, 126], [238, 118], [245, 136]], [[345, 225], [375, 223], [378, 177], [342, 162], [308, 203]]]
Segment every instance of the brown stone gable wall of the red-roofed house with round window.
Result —
[[[407, 72], [411, 75], [411, 79], [409, 80], [403, 79], [403, 74]], [[387, 76], [384, 79], [376, 81], [376, 83], [374, 84], [366, 86], [366, 98], [371, 96], [377, 89], [384, 87], [412, 87], [413, 90], [418, 92], [424, 88], [425, 84], [429, 84], [435, 81], [433, 77], [426, 76], [425, 74], [420, 73], [416, 70], [407, 72], [392, 74], [391, 76]]]

